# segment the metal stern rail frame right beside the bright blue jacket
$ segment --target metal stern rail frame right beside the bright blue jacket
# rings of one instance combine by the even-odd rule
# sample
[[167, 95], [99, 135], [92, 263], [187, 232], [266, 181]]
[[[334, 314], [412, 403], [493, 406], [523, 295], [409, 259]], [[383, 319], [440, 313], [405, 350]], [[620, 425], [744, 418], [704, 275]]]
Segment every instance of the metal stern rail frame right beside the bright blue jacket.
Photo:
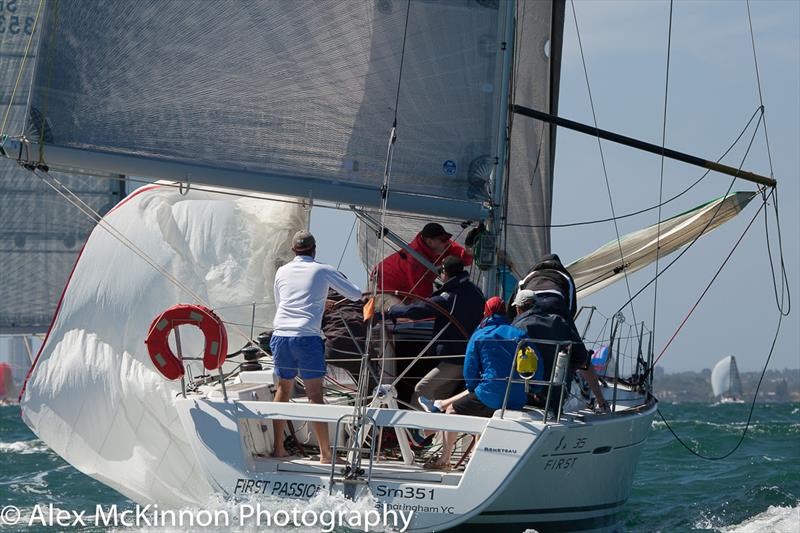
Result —
[[[520, 379], [514, 379], [514, 373], [517, 371], [517, 357], [521, 351], [524, 351], [526, 348], [532, 348], [534, 351], [537, 351], [537, 345], [551, 345], [553, 346], [553, 350], [555, 353], [555, 358], [553, 359], [553, 365], [550, 369], [550, 378], [548, 380], [537, 380], [533, 379], [534, 374], [523, 375], [517, 372], [520, 376]], [[547, 394], [547, 399], [545, 400], [545, 406], [542, 413], [542, 422], [547, 423], [549, 415], [551, 413], [551, 402], [554, 400], [553, 391], [557, 390], [557, 399], [558, 399], [558, 406], [556, 407], [555, 411], [553, 412], [553, 417], [555, 418], [556, 422], [561, 421], [561, 411], [564, 407], [564, 396], [566, 395], [566, 386], [571, 381], [572, 376], [569, 373], [569, 359], [570, 354], [572, 353], [572, 346], [574, 344], [579, 344], [578, 342], [572, 341], [554, 341], [551, 339], [522, 339], [517, 343], [516, 349], [514, 350], [514, 360], [511, 363], [511, 370], [508, 373], [508, 378], [506, 381], [506, 390], [503, 396], [503, 405], [500, 410], [500, 418], [504, 418], [506, 414], [506, 408], [508, 406], [508, 396], [511, 392], [511, 385], [514, 383], [523, 384], [525, 385], [525, 390], [527, 392], [528, 388], [531, 385], [534, 386], [543, 386], [545, 387], [545, 393]], [[538, 364], [542, 364], [539, 361]]]

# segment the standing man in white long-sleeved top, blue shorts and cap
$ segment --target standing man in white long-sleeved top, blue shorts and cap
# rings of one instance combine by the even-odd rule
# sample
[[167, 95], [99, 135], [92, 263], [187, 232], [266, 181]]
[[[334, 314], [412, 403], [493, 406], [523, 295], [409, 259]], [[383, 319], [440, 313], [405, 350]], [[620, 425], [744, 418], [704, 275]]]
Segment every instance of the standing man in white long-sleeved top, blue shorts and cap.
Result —
[[[361, 289], [330, 265], [314, 260], [317, 243], [308, 231], [298, 231], [292, 239], [295, 258], [275, 274], [275, 319], [270, 348], [278, 375], [276, 402], [288, 402], [292, 397], [294, 378], [298, 372], [312, 403], [324, 403], [322, 379], [325, 377], [325, 336], [322, 333], [322, 314], [328, 288], [333, 288], [349, 300], [361, 298]], [[273, 457], [289, 454], [283, 446], [285, 420], [273, 420], [275, 443]], [[328, 425], [314, 422], [319, 441], [320, 462], [330, 464], [331, 446]]]

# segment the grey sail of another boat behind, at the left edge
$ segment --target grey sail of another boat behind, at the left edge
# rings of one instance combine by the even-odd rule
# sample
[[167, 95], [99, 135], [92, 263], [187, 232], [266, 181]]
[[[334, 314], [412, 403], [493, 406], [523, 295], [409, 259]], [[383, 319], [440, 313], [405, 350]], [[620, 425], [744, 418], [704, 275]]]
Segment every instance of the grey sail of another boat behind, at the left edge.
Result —
[[[18, 135], [24, 128], [27, 89], [36, 57], [38, 5], [33, 0], [0, 3], [6, 27], [0, 32], [0, 119], [6, 135]], [[56, 176], [100, 213], [124, 196], [121, 181]], [[93, 226], [31, 172], [0, 158], [0, 334], [47, 331], [61, 290]]]

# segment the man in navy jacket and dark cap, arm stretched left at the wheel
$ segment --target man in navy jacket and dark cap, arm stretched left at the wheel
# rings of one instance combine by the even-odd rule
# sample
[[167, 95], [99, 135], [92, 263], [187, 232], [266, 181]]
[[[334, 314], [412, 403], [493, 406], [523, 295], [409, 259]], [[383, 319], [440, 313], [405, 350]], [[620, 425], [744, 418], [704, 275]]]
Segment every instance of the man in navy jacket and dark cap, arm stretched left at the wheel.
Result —
[[[471, 335], [483, 318], [485, 298], [480, 288], [469, 279], [464, 271], [464, 262], [458, 257], [447, 257], [442, 263], [444, 285], [433, 293], [430, 301], [446, 309], [462, 328]], [[432, 347], [436, 357], [464, 355], [467, 338], [461, 330], [444, 315], [426, 302], [410, 305], [394, 305], [384, 313], [386, 318], [410, 318], [420, 320], [434, 318], [433, 335], [439, 335]], [[440, 334], [441, 333], [441, 334]], [[448, 398], [461, 382], [462, 362], [460, 358], [445, 357], [439, 365], [423, 377], [415, 392], [425, 398]]]

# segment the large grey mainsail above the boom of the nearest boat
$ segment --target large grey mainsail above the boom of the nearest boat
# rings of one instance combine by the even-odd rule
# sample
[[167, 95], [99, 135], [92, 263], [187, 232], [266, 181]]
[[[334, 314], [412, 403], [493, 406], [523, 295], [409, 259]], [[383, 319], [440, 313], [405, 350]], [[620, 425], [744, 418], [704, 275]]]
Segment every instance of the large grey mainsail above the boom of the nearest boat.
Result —
[[478, 216], [507, 5], [51, 2], [25, 157], [378, 206], [397, 110], [389, 206]]

